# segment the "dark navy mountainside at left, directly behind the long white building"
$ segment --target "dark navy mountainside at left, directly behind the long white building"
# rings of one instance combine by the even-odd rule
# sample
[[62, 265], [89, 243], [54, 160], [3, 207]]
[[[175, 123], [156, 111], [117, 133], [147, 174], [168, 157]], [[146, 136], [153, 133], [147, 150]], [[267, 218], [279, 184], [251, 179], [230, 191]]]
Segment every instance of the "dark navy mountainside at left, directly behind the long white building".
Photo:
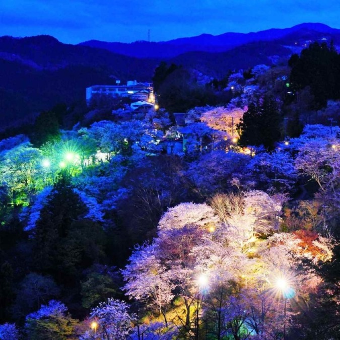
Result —
[[150, 81], [155, 60], [143, 60], [86, 46], [62, 44], [50, 36], [0, 38], [0, 126], [85, 100], [85, 88], [116, 79]]

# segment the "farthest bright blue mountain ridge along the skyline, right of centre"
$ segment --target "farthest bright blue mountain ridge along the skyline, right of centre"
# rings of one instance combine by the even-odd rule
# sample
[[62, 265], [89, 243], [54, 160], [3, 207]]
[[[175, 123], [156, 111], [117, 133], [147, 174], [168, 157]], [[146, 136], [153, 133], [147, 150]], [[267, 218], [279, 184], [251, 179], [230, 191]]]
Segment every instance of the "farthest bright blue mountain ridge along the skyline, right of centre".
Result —
[[224, 33], [220, 35], [201, 34], [195, 37], [178, 38], [169, 41], [133, 43], [104, 42], [89, 40], [79, 45], [107, 49], [114, 53], [140, 58], [173, 58], [186, 52], [225, 52], [237, 46], [257, 42], [283, 39], [290, 35], [299, 37], [303, 32], [312, 31], [314, 36], [326, 35], [340, 43], [340, 29], [320, 23], [304, 23], [291, 28], [273, 28], [250, 33]]

